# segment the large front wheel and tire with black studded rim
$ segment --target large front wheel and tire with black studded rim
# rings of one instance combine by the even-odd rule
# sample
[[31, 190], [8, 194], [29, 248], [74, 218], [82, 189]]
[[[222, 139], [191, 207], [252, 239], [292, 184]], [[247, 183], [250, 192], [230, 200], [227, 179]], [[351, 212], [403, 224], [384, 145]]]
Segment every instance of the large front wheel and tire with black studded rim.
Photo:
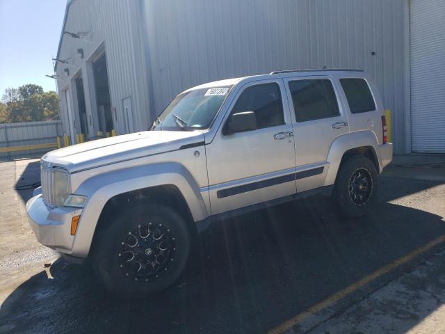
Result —
[[175, 283], [191, 247], [181, 215], [171, 207], [149, 204], [129, 207], [109, 223], [95, 238], [91, 254], [92, 268], [106, 289], [135, 299]]

